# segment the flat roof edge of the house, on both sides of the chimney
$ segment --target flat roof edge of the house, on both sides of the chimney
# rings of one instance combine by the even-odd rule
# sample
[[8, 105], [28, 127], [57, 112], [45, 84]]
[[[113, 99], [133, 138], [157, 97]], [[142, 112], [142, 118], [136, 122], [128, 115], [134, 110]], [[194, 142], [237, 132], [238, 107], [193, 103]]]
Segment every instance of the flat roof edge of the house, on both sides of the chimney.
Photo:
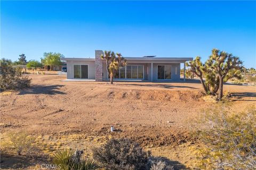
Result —
[[[127, 61], [191, 61], [193, 57], [124, 57]], [[66, 58], [61, 57], [62, 61], [95, 61], [95, 58]]]

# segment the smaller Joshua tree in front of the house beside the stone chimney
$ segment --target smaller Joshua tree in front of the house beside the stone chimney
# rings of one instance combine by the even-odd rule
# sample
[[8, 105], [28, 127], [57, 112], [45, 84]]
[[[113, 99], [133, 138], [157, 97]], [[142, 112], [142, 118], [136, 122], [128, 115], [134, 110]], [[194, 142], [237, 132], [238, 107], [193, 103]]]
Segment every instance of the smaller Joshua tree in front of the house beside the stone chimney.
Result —
[[113, 84], [116, 71], [126, 65], [126, 59], [120, 53], [115, 54], [111, 51], [105, 51], [104, 55], [101, 55], [101, 59], [106, 60], [110, 83]]

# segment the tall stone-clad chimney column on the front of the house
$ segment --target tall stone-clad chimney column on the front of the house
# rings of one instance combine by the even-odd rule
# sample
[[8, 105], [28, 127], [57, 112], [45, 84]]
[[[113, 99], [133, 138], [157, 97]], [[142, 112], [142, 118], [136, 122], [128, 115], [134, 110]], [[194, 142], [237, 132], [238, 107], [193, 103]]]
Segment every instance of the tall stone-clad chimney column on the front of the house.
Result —
[[103, 55], [102, 50], [95, 50], [95, 80], [103, 81], [103, 66], [101, 55]]

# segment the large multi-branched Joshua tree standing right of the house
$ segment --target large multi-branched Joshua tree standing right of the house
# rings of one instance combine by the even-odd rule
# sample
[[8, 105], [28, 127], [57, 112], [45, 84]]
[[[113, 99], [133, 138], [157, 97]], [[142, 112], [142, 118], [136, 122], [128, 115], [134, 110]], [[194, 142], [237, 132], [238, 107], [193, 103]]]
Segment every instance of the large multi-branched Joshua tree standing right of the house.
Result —
[[223, 82], [234, 77], [241, 79], [242, 63], [238, 57], [214, 48], [212, 55], [205, 64], [201, 62], [201, 57], [197, 56], [195, 60], [186, 63], [186, 65], [190, 67], [191, 72], [199, 77], [205, 93], [215, 95], [219, 91], [218, 98], [221, 100]]

